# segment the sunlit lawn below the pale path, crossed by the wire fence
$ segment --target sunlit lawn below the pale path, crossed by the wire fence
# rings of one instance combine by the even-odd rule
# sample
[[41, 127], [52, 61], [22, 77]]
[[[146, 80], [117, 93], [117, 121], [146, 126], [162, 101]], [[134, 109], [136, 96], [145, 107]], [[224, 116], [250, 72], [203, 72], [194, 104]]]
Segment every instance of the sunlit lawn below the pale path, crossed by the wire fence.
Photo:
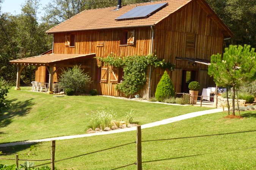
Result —
[[[161, 125], [142, 130], [142, 140], [179, 138], [185, 136], [198, 136], [205, 134], [230, 133], [238, 131], [256, 130], [256, 111], [241, 112], [244, 119], [224, 119], [227, 113], [214, 113], [193, 117], [167, 125]], [[88, 138], [77, 138], [56, 141], [55, 160], [68, 158], [116, 145], [134, 142], [136, 131], [117, 133]], [[227, 134], [201, 138], [176, 139], [171, 141], [154, 141], [142, 143], [142, 160], [151, 161], [166, 158], [177, 158], [144, 163], [147, 170], [255, 170], [256, 148], [241, 150], [242, 148], [256, 147], [256, 132]], [[38, 150], [35, 155], [20, 155], [20, 159], [50, 158], [50, 142], [36, 144]], [[30, 145], [0, 148], [3, 153], [26, 153]], [[15, 156], [2, 156], [14, 158]], [[15, 161], [1, 160], [4, 164], [14, 164]], [[123, 147], [81, 156], [62, 162], [56, 167], [64, 169], [93, 169], [109, 170], [136, 162], [136, 145]], [[22, 162], [23, 163], [23, 162]], [[44, 162], [40, 162], [44, 163]], [[35, 164], [40, 164], [35, 162]], [[136, 165], [123, 168], [135, 170]]]

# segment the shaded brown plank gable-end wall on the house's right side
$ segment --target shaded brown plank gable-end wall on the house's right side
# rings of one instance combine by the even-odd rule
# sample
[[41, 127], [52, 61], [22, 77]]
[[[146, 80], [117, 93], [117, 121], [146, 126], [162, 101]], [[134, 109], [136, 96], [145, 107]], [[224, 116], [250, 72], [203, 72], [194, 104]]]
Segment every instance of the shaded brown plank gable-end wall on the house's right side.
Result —
[[[186, 48], [186, 33], [195, 33], [195, 48]], [[156, 54], [160, 59], [165, 59], [176, 65], [170, 74], [176, 92], [181, 92], [182, 70], [207, 70], [208, 66], [175, 57], [200, 58], [210, 60], [212, 54], [222, 53], [224, 35], [217, 24], [209, 17], [197, 1], [190, 3], [178, 12], [170, 15], [155, 26]], [[151, 95], [154, 95], [157, 83], [163, 70], [157, 68], [152, 74]], [[198, 76], [201, 88], [212, 86], [213, 80], [207, 71], [200, 71]], [[209, 80], [209, 82], [208, 82]]]

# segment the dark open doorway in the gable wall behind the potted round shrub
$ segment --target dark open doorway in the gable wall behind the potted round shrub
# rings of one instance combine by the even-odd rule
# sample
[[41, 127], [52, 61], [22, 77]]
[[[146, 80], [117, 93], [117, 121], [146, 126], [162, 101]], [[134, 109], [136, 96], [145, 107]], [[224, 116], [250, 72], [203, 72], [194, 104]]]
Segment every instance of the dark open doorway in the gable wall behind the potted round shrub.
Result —
[[197, 81], [198, 71], [196, 70], [182, 70], [182, 93], [189, 93], [188, 85], [190, 82]]

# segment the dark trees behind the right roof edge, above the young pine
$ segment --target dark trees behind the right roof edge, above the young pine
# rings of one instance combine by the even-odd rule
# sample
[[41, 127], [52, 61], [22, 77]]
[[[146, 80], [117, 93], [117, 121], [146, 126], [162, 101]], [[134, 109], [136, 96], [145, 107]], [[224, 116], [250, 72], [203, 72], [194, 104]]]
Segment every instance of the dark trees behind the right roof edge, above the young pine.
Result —
[[234, 33], [229, 44], [248, 44], [256, 48], [256, 0], [206, 0]]

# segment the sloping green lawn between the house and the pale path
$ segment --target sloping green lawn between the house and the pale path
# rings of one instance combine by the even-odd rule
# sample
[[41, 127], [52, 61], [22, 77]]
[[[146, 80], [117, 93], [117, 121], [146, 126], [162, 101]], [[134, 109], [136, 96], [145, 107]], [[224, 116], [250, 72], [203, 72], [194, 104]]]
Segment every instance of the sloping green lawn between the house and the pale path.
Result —
[[[21, 87], [30, 90], [30, 87]], [[194, 111], [207, 110], [192, 106], [173, 106], [115, 99], [103, 96], [65, 96], [16, 91], [12, 88], [6, 97], [16, 107], [0, 114], [0, 143], [84, 134], [92, 111], [109, 108], [117, 113], [116, 121], [125, 119], [131, 109], [133, 121], [139, 124], [159, 121]]]

